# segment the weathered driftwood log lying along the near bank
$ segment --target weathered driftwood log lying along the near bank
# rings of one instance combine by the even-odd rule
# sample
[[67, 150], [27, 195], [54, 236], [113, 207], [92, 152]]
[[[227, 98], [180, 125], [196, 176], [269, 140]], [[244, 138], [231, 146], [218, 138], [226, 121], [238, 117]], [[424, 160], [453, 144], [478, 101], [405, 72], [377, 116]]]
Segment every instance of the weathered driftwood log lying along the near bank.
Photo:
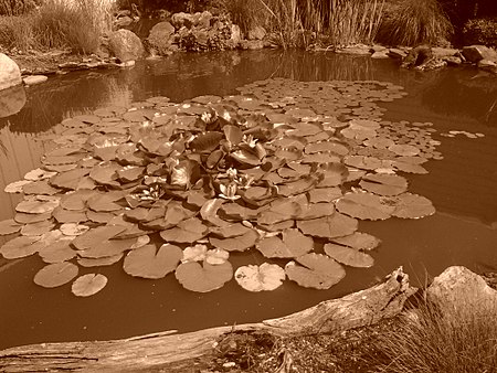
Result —
[[414, 291], [408, 275], [399, 268], [369, 289], [258, 323], [182, 334], [167, 331], [112, 341], [40, 343], [7, 349], [0, 351], [0, 372], [201, 372], [226, 334], [252, 331], [278, 337], [338, 333], [398, 315]]

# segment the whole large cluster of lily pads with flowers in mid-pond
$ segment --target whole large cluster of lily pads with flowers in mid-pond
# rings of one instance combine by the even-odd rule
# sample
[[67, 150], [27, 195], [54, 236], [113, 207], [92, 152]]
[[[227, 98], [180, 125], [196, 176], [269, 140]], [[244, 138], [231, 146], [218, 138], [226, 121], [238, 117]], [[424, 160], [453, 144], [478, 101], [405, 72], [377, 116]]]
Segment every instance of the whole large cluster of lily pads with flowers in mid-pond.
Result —
[[[250, 291], [288, 278], [327, 289], [345, 267], [370, 267], [380, 239], [358, 220], [420, 219], [430, 200], [400, 173], [442, 158], [431, 124], [381, 120], [374, 103], [402, 97], [380, 82], [268, 79], [236, 96], [167, 97], [63, 120], [45, 136], [42, 166], [6, 192], [22, 193], [0, 234], [8, 259], [38, 254], [43, 287], [80, 267], [115, 264], [135, 277], [173, 273], [193, 291], [234, 276]], [[290, 94], [290, 95], [289, 95]], [[267, 263], [233, 268], [237, 252]], [[73, 281], [76, 296], [107, 283]]]

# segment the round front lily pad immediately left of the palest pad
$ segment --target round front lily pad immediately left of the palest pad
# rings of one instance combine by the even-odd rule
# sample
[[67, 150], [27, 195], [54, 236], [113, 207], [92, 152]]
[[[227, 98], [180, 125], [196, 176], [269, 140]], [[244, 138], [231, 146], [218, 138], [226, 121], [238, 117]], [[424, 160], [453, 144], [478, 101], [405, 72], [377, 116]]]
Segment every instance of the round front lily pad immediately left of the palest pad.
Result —
[[230, 262], [220, 265], [198, 262], [182, 263], [175, 273], [178, 281], [188, 290], [208, 292], [223, 287], [233, 277]]

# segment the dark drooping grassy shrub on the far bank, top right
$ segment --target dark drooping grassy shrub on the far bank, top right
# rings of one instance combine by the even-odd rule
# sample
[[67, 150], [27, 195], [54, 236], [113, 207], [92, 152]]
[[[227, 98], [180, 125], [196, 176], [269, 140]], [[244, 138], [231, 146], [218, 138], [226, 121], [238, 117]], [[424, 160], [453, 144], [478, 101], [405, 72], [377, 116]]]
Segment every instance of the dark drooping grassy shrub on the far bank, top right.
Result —
[[389, 7], [377, 40], [388, 45], [440, 45], [453, 32], [437, 0], [402, 0]]

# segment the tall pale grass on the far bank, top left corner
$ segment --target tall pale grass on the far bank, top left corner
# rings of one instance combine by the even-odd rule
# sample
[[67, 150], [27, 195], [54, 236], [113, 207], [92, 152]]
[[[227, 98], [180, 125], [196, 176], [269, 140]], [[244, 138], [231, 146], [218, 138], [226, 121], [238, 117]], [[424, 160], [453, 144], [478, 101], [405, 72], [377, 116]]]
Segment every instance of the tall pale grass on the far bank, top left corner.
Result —
[[112, 29], [107, 0], [44, 0], [32, 12], [0, 17], [0, 44], [8, 49], [71, 49], [89, 54]]

